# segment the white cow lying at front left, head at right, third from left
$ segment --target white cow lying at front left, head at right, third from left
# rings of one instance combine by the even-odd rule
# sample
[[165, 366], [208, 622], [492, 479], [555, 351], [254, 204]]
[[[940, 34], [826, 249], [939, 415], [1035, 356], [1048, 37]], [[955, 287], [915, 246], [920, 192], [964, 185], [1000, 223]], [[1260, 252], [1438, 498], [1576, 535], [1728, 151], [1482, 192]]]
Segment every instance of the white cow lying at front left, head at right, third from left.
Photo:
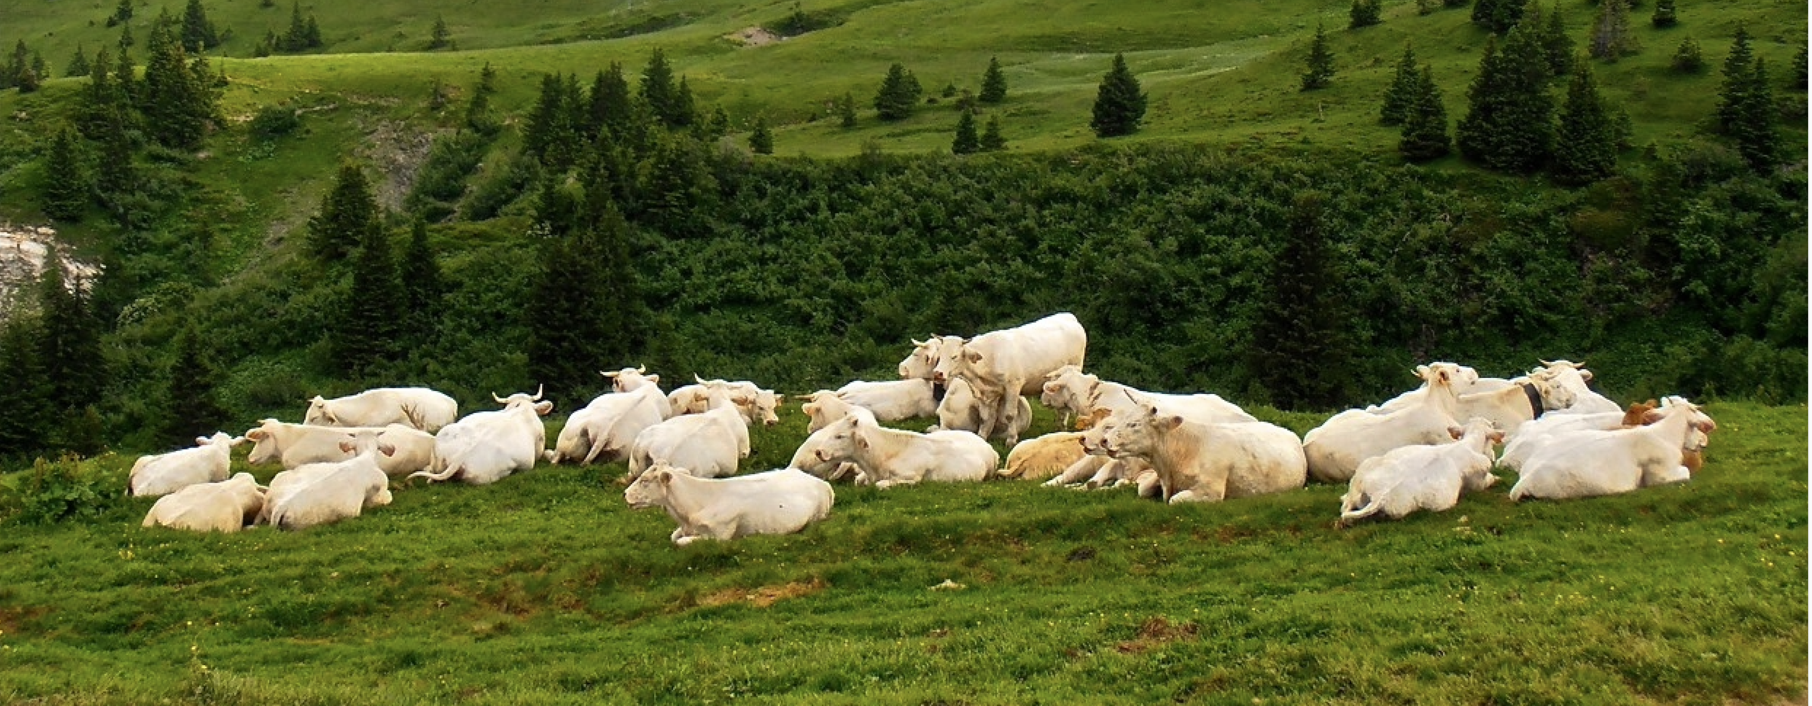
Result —
[[355, 456], [308, 463], [270, 480], [263, 516], [272, 527], [299, 530], [357, 518], [366, 507], [390, 505], [390, 476], [377, 465], [377, 458], [395, 449], [370, 433], [346, 434], [341, 444]]

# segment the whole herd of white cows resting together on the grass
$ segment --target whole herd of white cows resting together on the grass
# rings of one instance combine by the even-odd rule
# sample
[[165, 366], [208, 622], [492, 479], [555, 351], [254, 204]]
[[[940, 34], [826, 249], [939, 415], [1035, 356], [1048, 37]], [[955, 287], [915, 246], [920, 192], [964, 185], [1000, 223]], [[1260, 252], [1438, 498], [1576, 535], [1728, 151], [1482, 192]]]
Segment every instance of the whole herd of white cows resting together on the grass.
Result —
[[[612, 391], [574, 411], [553, 449], [553, 402], [516, 393], [458, 418], [451, 396], [384, 387], [308, 404], [303, 424], [263, 420], [245, 436], [143, 456], [134, 496], [163, 496], [145, 527], [236, 532], [304, 529], [391, 501], [393, 478], [495, 483], [536, 462], [627, 462], [631, 507], [661, 507], [672, 541], [797, 532], [824, 520], [830, 482], [886, 489], [920, 482], [1049, 478], [1044, 485], [1132, 485], [1169, 503], [1218, 501], [1348, 483], [1339, 521], [1446, 510], [1462, 492], [1518, 472], [1511, 500], [1582, 498], [1687, 480], [1716, 424], [1683, 398], [1629, 409], [1591, 391], [1566, 360], [1513, 380], [1451, 362], [1421, 366], [1421, 387], [1348, 409], [1297, 438], [1218, 395], [1145, 393], [1084, 373], [1087, 333], [1069, 313], [973, 339], [913, 340], [899, 380], [850, 382], [803, 396], [810, 436], [786, 469], [736, 476], [748, 425], [776, 424], [781, 404], [750, 382], [696, 380], [672, 393], [645, 367], [603, 373]], [[1075, 422], [1026, 442], [1027, 395]], [[935, 416], [926, 433], [882, 422]], [[1002, 467], [988, 438], [1013, 451]], [[228, 478], [232, 447], [284, 467], [270, 485]], [[1504, 445], [1502, 456], [1495, 454]]]

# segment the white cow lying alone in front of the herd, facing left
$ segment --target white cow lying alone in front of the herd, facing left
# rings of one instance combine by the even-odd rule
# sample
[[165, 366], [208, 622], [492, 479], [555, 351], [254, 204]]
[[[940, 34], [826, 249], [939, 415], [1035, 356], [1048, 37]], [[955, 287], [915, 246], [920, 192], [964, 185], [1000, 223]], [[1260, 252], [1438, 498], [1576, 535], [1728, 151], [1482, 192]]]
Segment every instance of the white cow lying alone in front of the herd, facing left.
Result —
[[698, 539], [792, 534], [828, 518], [837, 496], [830, 483], [797, 469], [710, 480], [656, 463], [629, 483], [623, 500], [638, 510], [665, 509], [680, 523], [672, 541], [685, 547]]

